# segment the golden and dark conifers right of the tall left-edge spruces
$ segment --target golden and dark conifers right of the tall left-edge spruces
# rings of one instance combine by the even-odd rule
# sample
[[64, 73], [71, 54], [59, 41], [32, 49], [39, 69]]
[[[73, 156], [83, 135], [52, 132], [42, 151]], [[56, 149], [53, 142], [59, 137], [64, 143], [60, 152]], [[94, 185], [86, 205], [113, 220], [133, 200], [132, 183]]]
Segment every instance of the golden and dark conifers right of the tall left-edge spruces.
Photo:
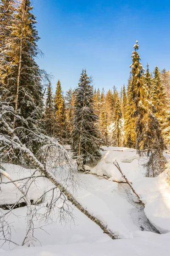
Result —
[[[153, 73], [150, 73], [148, 64], [145, 71], [140, 62], [138, 49], [139, 45], [136, 41], [132, 53], [127, 90], [123, 85], [120, 92], [116, 87], [113, 87], [113, 90], [108, 90], [107, 93], [104, 88], [100, 92], [99, 88], [96, 90], [91, 86], [88, 77], [82, 80], [83, 74], [87, 76], [86, 70], [83, 70], [79, 80], [79, 97], [76, 93], [77, 89], [72, 90], [71, 88], [64, 97], [61, 84], [58, 81], [53, 99], [49, 83], [45, 113], [50, 112], [51, 114], [45, 114], [45, 122], [47, 128], [51, 122], [50, 133], [52, 131], [52, 134], [63, 142], [71, 143], [75, 154], [78, 157], [83, 156], [83, 164], [91, 155], [93, 157], [90, 158], [93, 160], [95, 154], [98, 156], [96, 160], [99, 159], [99, 151], [92, 154], [95, 138], [98, 141], [98, 143], [95, 141], [96, 148], [99, 148], [100, 145], [136, 148], [139, 155], [149, 157], [146, 164], [147, 176], [154, 177], [165, 168], [166, 160], [163, 151], [166, 149], [166, 144], [170, 143], [170, 108], [168, 105], [170, 71], [160, 72], [156, 66]], [[86, 95], [86, 102], [81, 106], [84, 97], [84, 84], [86, 84], [86, 91], [89, 86], [91, 87], [91, 93], [89, 96]], [[88, 102], [90, 102], [89, 105]], [[83, 122], [78, 125], [79, 113], [82, 110], [85, 111], [87, 106], [90, 106], [90, 109], [81, 116]], [[91, 113], [95, 116], [94, 119], [91, 119]], [[93, 128], [89, 128], [90, 122], [94, 123]], [[75, 129], [79, 131], [77, 139], [75, 139]], [[81, 129], [84, 129], [82, 134]], [[90, 142], [87, 140], [88, 136], [85, 136], [89, 131], [89, 136], [93, 135]], [[84, 153], [82, 153], [83, 149], [82, 151], [76, 149], [82, 136], [84, 136], [82, 144], [89, 146]], [[75, 140], [77, 140], [77, 146], [75, 146]]]

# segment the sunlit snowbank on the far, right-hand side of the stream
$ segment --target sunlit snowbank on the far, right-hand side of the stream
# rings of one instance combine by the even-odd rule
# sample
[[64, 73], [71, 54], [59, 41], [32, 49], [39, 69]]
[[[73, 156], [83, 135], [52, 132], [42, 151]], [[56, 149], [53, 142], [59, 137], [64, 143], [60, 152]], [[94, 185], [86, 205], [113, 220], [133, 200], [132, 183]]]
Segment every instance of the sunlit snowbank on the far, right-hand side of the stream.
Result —
[[[125, 182], [119, 170], [114, 166], [117, 161], [123, 174], [133, 184], [145, 204], [144, 212], [160, 233], [170, 232], [170, 186], [167, 183], [167, 171], [158, 177], [144, 177], [145, 170], [136, 150], [132, 148], [103, 147], [102, 159], [91, 169], [91, 173], [107, 176], [109, 180]], [[119, 151], [117, 151], [119, 150]], [[165, 154], [169, 160], [169, 155]]]

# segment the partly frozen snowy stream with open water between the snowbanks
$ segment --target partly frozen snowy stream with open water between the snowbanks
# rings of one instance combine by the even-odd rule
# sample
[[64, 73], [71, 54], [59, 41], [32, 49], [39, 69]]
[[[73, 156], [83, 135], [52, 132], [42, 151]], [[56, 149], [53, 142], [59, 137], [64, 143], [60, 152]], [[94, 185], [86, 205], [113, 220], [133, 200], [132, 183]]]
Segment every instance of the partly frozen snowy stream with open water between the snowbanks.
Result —
[[[109, 208], [114, 215], [121, 219], [123, 224], [130, 230], [142, 230], [159, 233], [144, 214], [144, 208], [133, 201], [131, 189], [127, 183], [116, 183], [91, 174], [79, 173], [83, 188], [91, 192], [103, 205]], [[95, 202], [94, 202], [95, 204]]]

